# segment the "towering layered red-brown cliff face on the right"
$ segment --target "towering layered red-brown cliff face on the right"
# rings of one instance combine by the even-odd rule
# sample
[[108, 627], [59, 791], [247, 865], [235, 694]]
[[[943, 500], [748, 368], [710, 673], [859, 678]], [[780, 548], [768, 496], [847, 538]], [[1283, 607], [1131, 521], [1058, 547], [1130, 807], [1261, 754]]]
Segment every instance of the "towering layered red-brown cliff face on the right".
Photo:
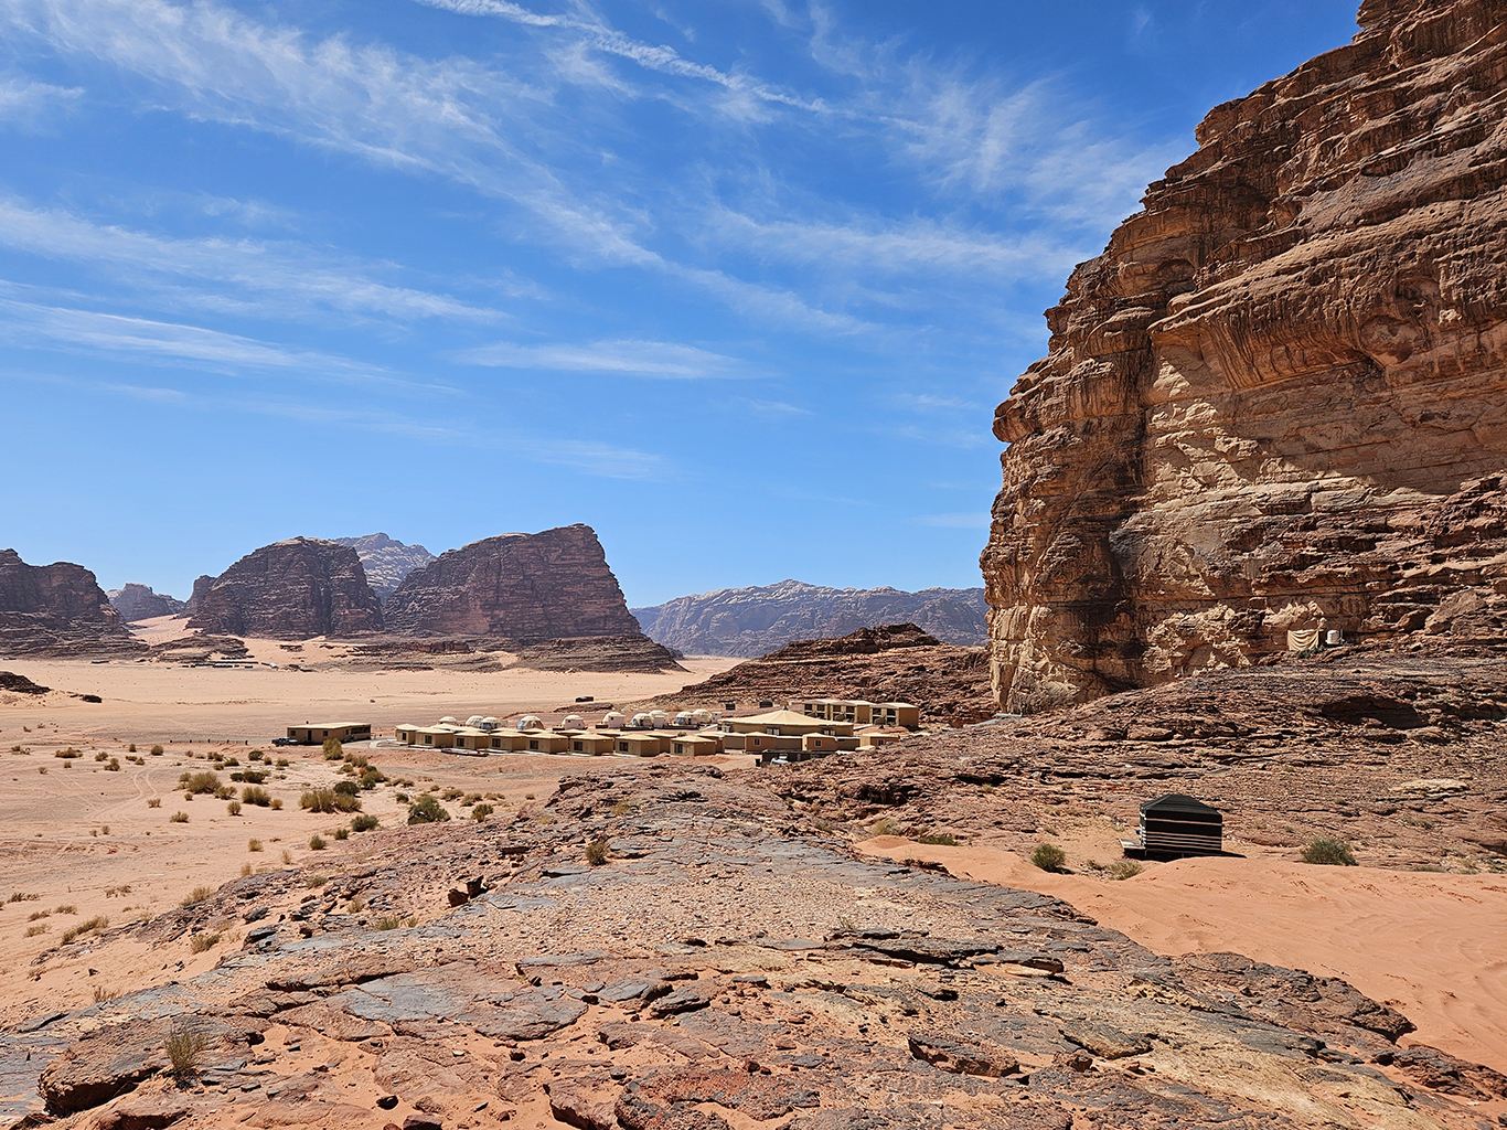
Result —
[[1370, 0], [1215, 108], [998, 410], [996, 693], [1243, 666], [1288, 628], [1501, 633], [1507, 3]]

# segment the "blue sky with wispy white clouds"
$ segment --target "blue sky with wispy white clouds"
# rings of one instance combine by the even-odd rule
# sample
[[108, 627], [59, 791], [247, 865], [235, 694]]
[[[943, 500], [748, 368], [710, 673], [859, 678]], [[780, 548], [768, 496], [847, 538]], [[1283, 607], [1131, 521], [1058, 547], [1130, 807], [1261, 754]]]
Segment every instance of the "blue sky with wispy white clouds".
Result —
[[967, 586], [1041, 310], [1353, 0], [0, 0], [0, 545]]

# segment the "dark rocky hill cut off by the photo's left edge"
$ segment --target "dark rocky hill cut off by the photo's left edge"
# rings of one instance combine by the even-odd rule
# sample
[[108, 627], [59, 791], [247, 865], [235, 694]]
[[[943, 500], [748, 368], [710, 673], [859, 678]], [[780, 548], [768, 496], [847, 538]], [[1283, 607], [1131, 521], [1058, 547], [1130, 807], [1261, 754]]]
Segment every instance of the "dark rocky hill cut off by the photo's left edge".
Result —
[[92, 655], [145, 646], [83, 565], [27, 565], [15, 550], [0, 550], [0, 655]]

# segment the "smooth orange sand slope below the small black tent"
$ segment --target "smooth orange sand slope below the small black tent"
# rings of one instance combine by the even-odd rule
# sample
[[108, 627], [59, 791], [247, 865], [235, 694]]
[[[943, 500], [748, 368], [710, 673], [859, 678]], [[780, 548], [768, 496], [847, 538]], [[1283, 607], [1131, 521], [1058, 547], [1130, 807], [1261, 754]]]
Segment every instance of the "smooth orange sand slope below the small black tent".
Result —
[[1340, 976], [1391, 1003], [1423, 1043], [1507, 1071], [1507, 880], [1276, 859], [1183, 859], [1124, 881], [1053, 875], [1013, 851], [898, 836], [871, 854], [1040, 890], [1160, 954], [1233, 951]]

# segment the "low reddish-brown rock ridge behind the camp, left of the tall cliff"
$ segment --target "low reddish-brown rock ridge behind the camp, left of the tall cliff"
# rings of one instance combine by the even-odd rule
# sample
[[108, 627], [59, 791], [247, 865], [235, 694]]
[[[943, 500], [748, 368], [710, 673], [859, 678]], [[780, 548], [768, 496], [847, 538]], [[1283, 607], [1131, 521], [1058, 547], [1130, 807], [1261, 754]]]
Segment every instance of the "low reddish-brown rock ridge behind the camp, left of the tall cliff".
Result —
[[984, 648], [958, 648], [915, 624], [860, 628], [841, 639], [802, 640], [740, 663], [674, 695], [633, 708], [740, 710], [802, 696], [912, 702], [927, 722], [978, 722], [993, 716]]

